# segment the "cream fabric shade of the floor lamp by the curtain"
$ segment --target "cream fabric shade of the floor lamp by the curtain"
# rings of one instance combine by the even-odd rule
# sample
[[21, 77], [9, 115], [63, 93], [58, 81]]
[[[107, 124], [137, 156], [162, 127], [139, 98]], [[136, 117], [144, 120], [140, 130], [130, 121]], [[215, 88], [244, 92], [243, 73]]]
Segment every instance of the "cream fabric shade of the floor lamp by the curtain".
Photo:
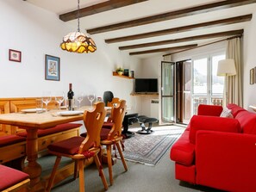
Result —
[[218, 63], [217, 76], [236, 75], [234, 59], [223, 59]]

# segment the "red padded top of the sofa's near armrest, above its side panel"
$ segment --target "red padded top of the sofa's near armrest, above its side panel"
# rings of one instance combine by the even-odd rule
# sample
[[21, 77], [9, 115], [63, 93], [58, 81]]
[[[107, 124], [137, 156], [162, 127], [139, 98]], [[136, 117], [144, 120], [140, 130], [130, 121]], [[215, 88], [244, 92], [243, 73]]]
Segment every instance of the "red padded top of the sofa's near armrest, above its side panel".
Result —
[[241, 133], [240, 123], [236, 119], [193, 115], [190, 120], [190, 142], [196, 143], [198, 130]]

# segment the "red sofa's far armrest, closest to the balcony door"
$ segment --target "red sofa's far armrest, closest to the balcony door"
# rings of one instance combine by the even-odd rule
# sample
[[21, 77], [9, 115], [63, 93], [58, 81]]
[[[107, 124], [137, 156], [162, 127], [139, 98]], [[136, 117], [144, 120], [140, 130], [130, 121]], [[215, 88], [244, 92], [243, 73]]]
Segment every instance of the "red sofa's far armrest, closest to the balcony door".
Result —
[[197, 108], [197, 115], [220, 116], [222, 114], [222, 106], [200, 104]]

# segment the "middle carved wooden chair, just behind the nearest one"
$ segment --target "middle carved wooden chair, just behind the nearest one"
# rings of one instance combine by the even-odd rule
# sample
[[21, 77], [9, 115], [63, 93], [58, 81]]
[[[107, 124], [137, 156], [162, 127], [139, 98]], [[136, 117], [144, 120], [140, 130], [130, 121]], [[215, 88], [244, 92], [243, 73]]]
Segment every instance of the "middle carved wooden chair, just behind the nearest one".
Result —
[[112, 108], [111, 111], [111, 129], [102, 128], [101, 132], [101, 144], [107, 147], [107, 158], [109, 166], [109, 180], [110, 184], [113, 184], [112, 176], [112, 156], [111, 156], [111, 147], [116, 146], [119, 152], [119, 155], [122, 159], [122, 164], [124, 169], [127, 171], [128, 167], [122, 155], [122, 121], [126, 112], [126, 101], [120, 100], [120, 103], [116, 107]]

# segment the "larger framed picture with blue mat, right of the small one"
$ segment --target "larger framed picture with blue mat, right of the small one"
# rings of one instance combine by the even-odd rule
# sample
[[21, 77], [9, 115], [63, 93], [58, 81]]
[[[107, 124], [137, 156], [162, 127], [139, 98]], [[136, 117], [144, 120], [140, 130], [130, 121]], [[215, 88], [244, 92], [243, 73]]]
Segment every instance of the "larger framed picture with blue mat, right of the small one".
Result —
[[46, 80], [59, 81], [60, 59], [46, 54]]

